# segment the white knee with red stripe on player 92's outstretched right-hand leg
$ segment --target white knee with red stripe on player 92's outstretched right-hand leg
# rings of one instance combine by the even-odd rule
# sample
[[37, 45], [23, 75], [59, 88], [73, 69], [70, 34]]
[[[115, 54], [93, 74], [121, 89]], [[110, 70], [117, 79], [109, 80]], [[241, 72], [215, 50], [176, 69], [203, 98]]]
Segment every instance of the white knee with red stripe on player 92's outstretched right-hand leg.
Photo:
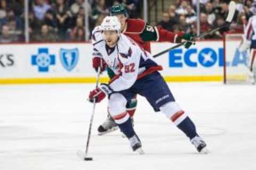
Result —
[[187, 114], [182, 111], [181, 107], [174, 101], [164, 104], [160, 107], [160, 110], [175, 125], [179, 125], [187, 117]]

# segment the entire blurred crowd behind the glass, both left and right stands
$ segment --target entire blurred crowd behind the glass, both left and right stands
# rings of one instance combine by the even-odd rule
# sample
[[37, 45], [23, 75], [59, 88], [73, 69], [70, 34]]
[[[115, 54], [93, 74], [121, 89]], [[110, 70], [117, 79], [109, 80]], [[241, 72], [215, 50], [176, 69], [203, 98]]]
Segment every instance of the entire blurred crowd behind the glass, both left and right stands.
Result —
[[[25, 0], [0, 0], [0, 43], [25, 41]], [[110, 7], [123, 4], [130, 18], [139, 18], [143, 1], [141, 0], [29, 0], [30, 42], [84, 41], [85, 31], [101, 23], [109, 15]], [[196, 0], [177, 0], [162, 13], [157, 23], [164, 29], [185, 31], [196, 35]], [[225, 22], [229, 1], [199, 0], [201, 33], [218, 27]], [[230, 28], [222, 29], [205, 38], [222, 38], [223, 32], [243, 32], [250, 16], [256, 14], [256, 2], [236, 1], [234, 22]], [[85, 6], [89, 11], [89, 30], [85, 30]]]

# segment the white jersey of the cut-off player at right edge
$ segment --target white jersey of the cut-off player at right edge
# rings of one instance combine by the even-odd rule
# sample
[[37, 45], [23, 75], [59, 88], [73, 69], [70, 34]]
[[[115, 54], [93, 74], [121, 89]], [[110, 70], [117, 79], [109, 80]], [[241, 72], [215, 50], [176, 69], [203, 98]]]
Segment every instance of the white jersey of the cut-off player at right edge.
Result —
[[252, 16], [247, 25], [244, 32], [244, 38], [247, 40], [256, 40], [256, 15]]

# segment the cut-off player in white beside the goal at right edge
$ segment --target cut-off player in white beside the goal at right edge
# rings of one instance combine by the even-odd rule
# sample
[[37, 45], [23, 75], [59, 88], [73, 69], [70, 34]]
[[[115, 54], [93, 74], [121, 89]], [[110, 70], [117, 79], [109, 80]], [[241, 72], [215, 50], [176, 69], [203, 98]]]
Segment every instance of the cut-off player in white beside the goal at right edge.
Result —
[[255, 70], [255, 56], [256, 56], [256, 15], [253, 15], [245, 28], [243, 40], [239, 45], [239, 51], [243, 52], [250, 48], [249, 56], [249, 81], [255, 84], [256, 81], [256, 70]]

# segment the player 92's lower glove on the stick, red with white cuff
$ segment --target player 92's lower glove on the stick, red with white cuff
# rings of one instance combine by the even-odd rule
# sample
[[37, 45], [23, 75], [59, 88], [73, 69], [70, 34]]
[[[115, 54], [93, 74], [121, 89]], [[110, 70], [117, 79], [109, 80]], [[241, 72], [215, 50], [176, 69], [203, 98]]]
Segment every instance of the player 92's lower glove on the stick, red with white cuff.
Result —
[[100, 86], [90, 92], [89, 101], [93, 103], [94, 98], [96, 103], [100, 103], [106, 96], [113, 93], [113, 90], [108, 86], [108, 84], [100, 84]]

